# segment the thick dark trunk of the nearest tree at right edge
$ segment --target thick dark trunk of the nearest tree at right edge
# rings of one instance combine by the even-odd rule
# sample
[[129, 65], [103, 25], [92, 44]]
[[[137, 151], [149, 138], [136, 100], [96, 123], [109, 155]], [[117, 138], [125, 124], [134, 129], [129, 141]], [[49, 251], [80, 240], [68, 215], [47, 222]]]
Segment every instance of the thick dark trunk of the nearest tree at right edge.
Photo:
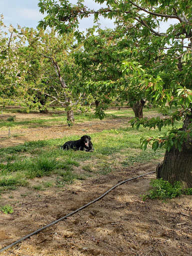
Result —
[[[187, 115], [182, 130], [186, 130], [191, 115]], [[182, 143], [181, 151], [173, 147], [166, 151], [164, 160], [156, 167], [156, 177], [168, 180], [171, 184], [180, 181], [185, 188], [192, 187], [192, 139], [188, 135], [187, 140]]]

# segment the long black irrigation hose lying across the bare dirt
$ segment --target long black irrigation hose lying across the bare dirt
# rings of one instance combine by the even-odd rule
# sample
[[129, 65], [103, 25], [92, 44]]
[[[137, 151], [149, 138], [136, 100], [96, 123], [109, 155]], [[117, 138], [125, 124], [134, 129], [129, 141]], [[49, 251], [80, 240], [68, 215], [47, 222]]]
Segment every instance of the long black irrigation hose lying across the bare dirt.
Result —
[[59, 218], [59, 219], [53, 221], [53, 222], [50, 223], [50, 224], [48, 224], [48, 225], [46, 225], [46, 226], [43, 226], [43, 227], [41, 227], [40, 229], [38, 229], [38, 230], [36, 230], [36, 231], [34, 231], [34, 232], [30, 233], [30, 234], [27, 234], [26, 236], [20, 238], [19, 240], [17, 240], [17, 241], [15, 241], [15, 242], [13, 242], [13, 243], [7, 245], [6, 247], [0, 249], [0, 252], [6, 250], [6, 249], [8, 249], [8, 248], [10, 248], [11, 246], [13, 246], [14, 244], [16, 244], [16, 243], [18, 243], [18, 242], [21, 242], [21, 241], [25, 240], [26, 238], [30, 237], [31, 235], [40, 232], [41, 230], [45, 229], [46, 227], [49, 227], [49, 226], [51, 226], [51, 225], [53, 225], [53, 224], [56, 224], [58, 221], [60, 221], [60, 220], [62, 220], [62, 219], [65, 219], [66, 217], [69, 217], [69, 216], [73, 215], [74, 213], [76, 213], [76, 212], [79, 211], [79, 210], [82, 210], [83, 208], [87, 207], [87, 206], [90, 205], [91, 203], [94, 203], [95, 201], [100, 200], [102, 197], [104, 197], [107, 193], [109, 193], [109, 192], [110, 192], [112, 189], [114, 189], [116, 186], [119, 186], [119, 185], [121, 185], [121, 184], [123, 184], [123, 183], [125, 183], [125, 182], [127, 182], [127, 181], [129, 181], [129, 180], [132, 180], [132, 179], [135, 179], [135, 178], [140, 178], [140, 177], [142, 177], [142, 176], [145, 176], [145, 175], [148, 175], [148, 174], [151, 174], [151, 173], [154, 173], [154, 172], [155, 172], [155, 170], [154, 170], [154, 171], [151, 171], [151, 172], [148, 172], [148, 173], [145, 173], [145, 174], [142, 174], [142, 175], [139, 175], [139, 176], [136, 176], [136, 177], [133, 177], [133, 178], [128, 178], [128, 179], [126, 179], [126, 180], [123, 180], [123, 181], [117, 183], [116, 185], [112, 186], [112, 187], [111, 187], [110, 189], [108, 189], [105, 193], [103, 193], [102, 195], [100, 195], [99, 197], [97, 197], [96, 199], [94, 199], [93, 201], [88, 202], [87, 204], [85, 204], [85, 205], [81, 206], [80, 208], [78, 208], [78, 209], [76, 209], [76, 210], [74, 210], [74, 211], [68, 213], [67, 215], [65, 215], [65, 216], [63, 216], [63, 217], [61, 217], [61, 218]]

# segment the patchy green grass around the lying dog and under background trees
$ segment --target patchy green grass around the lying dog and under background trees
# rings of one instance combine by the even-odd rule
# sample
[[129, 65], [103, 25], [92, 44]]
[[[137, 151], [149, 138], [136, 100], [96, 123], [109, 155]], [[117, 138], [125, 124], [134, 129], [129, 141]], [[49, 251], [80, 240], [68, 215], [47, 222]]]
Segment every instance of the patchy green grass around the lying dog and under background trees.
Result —
[[[144, 109], [144, 115], [158, 113], [157, 109]], [[132, 117], [130, 108], [109, 110], [106, 118]], [[63, 123], [63, 114], [54, 114], [49, 119], [39, 119], [31, 121], [13, 121], [11, 125], [52, 125], [54, 122]], [[92, 120], [91, 113], [76, 114], [76, 120]], [[8, 122], [8, 125], [10, 122]], [[6, 121], [0, 122], [0, 126], [7, 125]], [[179, 123], [178, 123], [179, 125]], [[9, 125], [10, 126], [10, 125]], [[114, 171], [116, 165], [126, 167], [136, 163], [144, 163], [152, 159], [163, 157], [164, 149], [155, 152], [150, 146], [142, 152], [140, 148], [140, 138], [142, 136], [156, 136], [163, 134], [167, 128], [148, 129], [140, 127], [138, 130], [132, 129], [129, 124], [126, 128], [103, 130], [94, 132], [91, 135], [94, 146], [93, 152], [62, 150], [59, 148], [66, 140], [79, 139], [79, 135], [64, 136], [58, 139], [28, 141], [22, 145], [0, 148], [0, 192], [16, 189], [19, 186], [28, 186], [30, 179], [51, 176], [51, 182], [37, 184], [34, 189], [41, 190], [51, 186], [62, 187], [66, 183], [75, 180], [83, 180], [86, 176], [107, 174]], [[72, 133], [72, 128], [71, 128]], [[87, 163], [88, 162], [88, 163]], [[91, 163], [90, 163], [91, 162]], [[75, 171], [79, 169], [77, 173]], [[80, 173], [80, 174], [79, 174]]]

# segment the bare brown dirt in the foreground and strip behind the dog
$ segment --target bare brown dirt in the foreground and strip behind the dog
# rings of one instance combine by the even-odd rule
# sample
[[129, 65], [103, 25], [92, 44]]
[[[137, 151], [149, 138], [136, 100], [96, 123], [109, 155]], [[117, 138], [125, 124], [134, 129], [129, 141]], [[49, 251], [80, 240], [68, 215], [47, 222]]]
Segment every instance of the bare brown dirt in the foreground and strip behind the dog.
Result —
[[[29, 117], [28, 114], [27, 116]], [[6, 139], [2, 136], [0, 147], [16, 145], [26, 140], [118, 128], [126, 123], [125, 118], [75, 124], [71, 129], [63, 125], [11, 130], [11, 133], [23, 132], [24, 135]], [[5, 130], [0, 130], [0, 134], [2, 132], [6, 134]], [[0, 247], [5, 247], [92, 201], [119, 181], [155, 170], [155, 166], [156, 162], [135, 164], [116, 168], [106, 175], [95, 174], [62, 188], [51, 187], [37, 191], [23, 187], [3, 193], [0, 203], [13, 204], [14, 211], [7, 215], [0, 212]], [[116, 187], [102, 199], [17, 243], [0, 255], [191, 255], [191, 196], [183, 195], [166, 202], [150, 199], [142, 201], [140, 194], [150, 189], [150, 178], [155, 178], [155, 174]]]

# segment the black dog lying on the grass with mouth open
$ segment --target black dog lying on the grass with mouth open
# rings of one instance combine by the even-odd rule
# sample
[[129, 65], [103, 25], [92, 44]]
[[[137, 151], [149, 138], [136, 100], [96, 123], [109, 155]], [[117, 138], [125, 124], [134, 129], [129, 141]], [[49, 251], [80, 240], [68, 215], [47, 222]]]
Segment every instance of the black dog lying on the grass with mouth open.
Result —
[[91, 137], [88, 135], [83, 135], [78, 140], [69, 140], [65, 142], [61, 148], [62, 149], [69, 149], [72, 148], [74, 150], [84, 150], [84, 151], [93, 151], [94, 148], [92, 146], [92, 142], [90, 141]]

